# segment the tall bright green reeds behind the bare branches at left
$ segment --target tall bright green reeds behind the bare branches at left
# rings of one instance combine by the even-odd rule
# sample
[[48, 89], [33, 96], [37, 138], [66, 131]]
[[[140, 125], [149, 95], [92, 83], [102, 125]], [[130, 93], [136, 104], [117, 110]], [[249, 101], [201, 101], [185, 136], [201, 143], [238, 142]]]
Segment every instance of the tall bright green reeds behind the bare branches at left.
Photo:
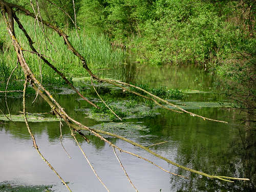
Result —
[[[34, 20], [24, 15], [19, 15], [20, 22], [24, 25], [28, 34], [35, 42], [34, 47], [41, 54], [47, 55], [48, 60], [67, 77], [84, 77], [89, 76], [87, 71], [82, 68], [80, 60], [67, 49], [62, 37], [52, 30], [46, 28], [46, 36], [50, 39], [45, 40], [41, 29], [35, 26]], [[3, 23], [2, 20], [0, 20]], [[123, 65], [125, 60], [125, 52], [120, 49], [113, 50], [108, 37], [103, 34], [87, 33], [82, 29], [78, 31], [80, 38], [78, 38], [75, 30], [66, 29], [69, 35], [69, 40], [75, 49], [86, 59], [88, 66], [93, 72], [97, 73], [98, 69], [116, 69]], [[15, 33], [17, 40], [25, 50], [30, 50], [27, 38], [23, 32], [15, 25]], [[17, 56], [11, 44], [10, 37], [7, 34], [4, 25], [0, 27], [0, 46], [4, 52], [0, 50], [0, 87], [3, 87], [6, 79], [10, 75], [12, 69], [16, 66]], [[48, 67], [44, 62], [39, 61], [37, 55], [29, 52], [24, 52], [28, 65], [38, 80], [42, 78], [42, 82], [47, 84], [58, 84], [57, 74]], [[41, 74], [40, 74], [41, 69]], [[12, 80], [23, 79], [24, 75], [19, 68], [13, 73]]]

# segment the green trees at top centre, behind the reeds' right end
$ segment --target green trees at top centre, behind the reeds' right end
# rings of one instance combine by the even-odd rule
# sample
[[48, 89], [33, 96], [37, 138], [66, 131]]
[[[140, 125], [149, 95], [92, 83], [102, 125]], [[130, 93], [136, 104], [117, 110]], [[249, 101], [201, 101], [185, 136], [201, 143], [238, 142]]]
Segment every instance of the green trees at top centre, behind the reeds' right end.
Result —
[[125, 41], [137, 33], [139, 25], [154, 15], [154, 1], [81, 0], [78, 12], [80, 25], [103, 31], [115, 41]]

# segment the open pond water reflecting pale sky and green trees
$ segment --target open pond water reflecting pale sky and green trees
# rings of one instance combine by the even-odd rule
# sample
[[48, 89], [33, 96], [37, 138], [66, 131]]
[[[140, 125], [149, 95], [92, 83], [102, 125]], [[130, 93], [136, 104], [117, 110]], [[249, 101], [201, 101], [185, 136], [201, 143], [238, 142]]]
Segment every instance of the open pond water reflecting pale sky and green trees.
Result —
[[[211, 76], [201, 69], [193, 67], [148, 67], [145, 65], [126, 65], [122, 75], [115, 70], [100, 72], [104, 76], [137, 84], [148, 84], [151, 87], [164, 86], [169, 89], [194, 90], [187, 91], [182, 101], [215, 102], [221, 96], [211, 92]], [[195, 93], [200, 90], [203, 93]], [[87, 97], [88, 90], [81, 88]], [[104, 95], [104, 91], [101, 92]], [[115, 126], [119, 134], [144, 146], [154, 145], [151, 150], [181, 165], [208, 173], [229, 177], [249, 178], [250, 181], [225, 181], [208, 179], [192, 174], [172, 164], [156, 158], [122, 140], [106, 136], [114, 144], [126, 151], [131, 151], [152, 160], [156, 164], [188, 177], [188, 179], [169, 175], [154, 165], [136, 157], [119, 153], [123, 166], [139, 191], [255, 191], [256, 190], [256, 149], [255, 129], [245, 128], [241, 119], [243, 114], [237, 110], [222, 108], [197, 107], [188, 111], [199, 115], [228, 121], [228, 124], [204, 121], [187, 114], [176, 114], [163, 109], [156, 109], [154, 116], [99, 121], [88, 118], [82, 110], [88, 104], [76, 94], [55, 94], [57, 101], [76, 120], [90, 127]], [[1, 109], [7, 113], [4, 97], [0, 97]], [[121, 98], [123, 99], [123, 98]], [[27, 98], [27, 111], [30, 113], [47, 113], [49, 106], [34, 96]], [[96, 99], [95, 99], [96, 100]], [[22, 98], [9, 97], [8, 106], [11, 114], [22, 111]], [[179, 102], [179, 101], [176, 101]], [[125, 129], [124, 126], [139, 127]], [[86, 159], [70, 134], [69, 128], [62, 127], [62, 143], [71, 159], [63, 150], [59, 136], [59, 122], [30, 122], [39, 150], [49, 160], [61, 177], [69, 182], [73, 192], [106, 191], [93, 174]], [[110, 191], [135, 191], [121, 169], [112, 147], [95, 136], [88, 135], [90, 143], [77, 136], [86, 155], [96, 172]], [[38, 156], [24, 122], [0, 121], [0, 184], [4, 181], [16, 181], [26, 185], [53, 185], [55, 191], [68, 191], [56, 175]], [[1, 191], [2, 189], [0, 189]]]

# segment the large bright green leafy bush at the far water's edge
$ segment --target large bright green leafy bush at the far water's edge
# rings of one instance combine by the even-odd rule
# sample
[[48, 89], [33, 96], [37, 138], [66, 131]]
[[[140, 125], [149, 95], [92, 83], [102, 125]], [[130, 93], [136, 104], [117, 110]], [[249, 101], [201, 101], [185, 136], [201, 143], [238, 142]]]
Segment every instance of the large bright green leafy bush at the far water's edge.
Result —
[[[205, 63], [229, 47], [236, 34], [214, 5], [195, 1], [158, 1], [158, 19], [142, 27], [139, 49], [150, 63]], [[228, 36], [227, 36], [228, 35]], [[132, 46], [137, 46], [138, 41]]]

